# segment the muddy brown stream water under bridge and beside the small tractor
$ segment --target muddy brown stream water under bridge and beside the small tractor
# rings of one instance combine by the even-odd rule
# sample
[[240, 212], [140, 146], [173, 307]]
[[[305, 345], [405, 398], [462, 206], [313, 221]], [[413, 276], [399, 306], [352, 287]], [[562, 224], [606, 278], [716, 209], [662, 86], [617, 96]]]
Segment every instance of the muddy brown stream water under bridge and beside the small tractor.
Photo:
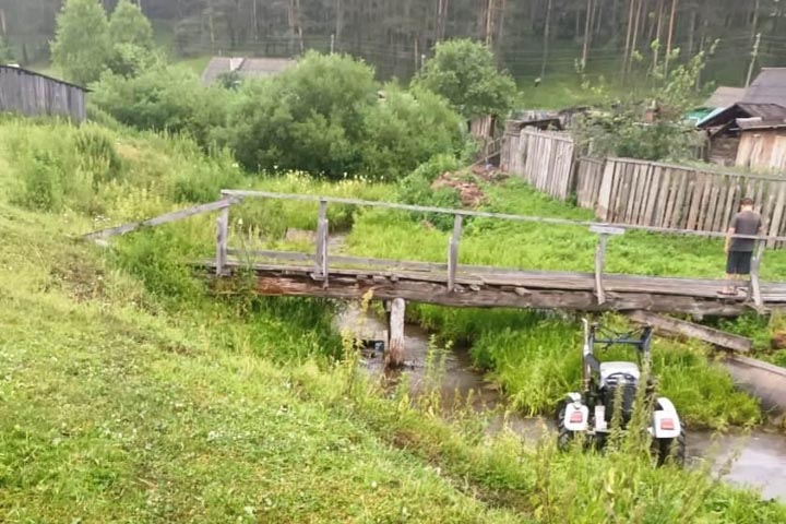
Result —
[[[337, 319], [340, 329], [355, 333], [359, 338], [376, 338], [386, 326], [371, 314], [364, 314], [348, 307]], [[422, 391], [428, 380], [429, 334], [418, 326], [407, 325], [407, 366], [400, 373], [407, 374], [414, 393]], [[372, 376], [384, 374], [384, 361], [380, 350], [369, 349], [364, 354], [364, 365]], [[388, 377], [396, 379], [396, 377]], [[484, 380], [483, 374], [472, 368], [466, 350], [456, 349], [444, 357], [442, 396], [448, 404], [456, 397], [466, 398], [473, 392], [473, 406], [477, 410], [502, 408], [504, 398], [498, 388]], [[502, 409], [500, 409], [502, 410]], [[551, 430], [550, 420], [507, 417], [508, 427], [525, 439], [537, 439], [545, 430]], [[502, 416], [492, 417], [489, 432], [502, 427]], [[546, 429], [548, 428], [548, 429]], [[712, 434], [706, 431], [688, 429], [689, 461], [698, 464], [702, 460], [713, 462], [713, 472], [718, 474], [730, 458], [734, 462], [725, 480], [740, 486], [752, 486], [762, 491], [764, 499], [786, 502], [786, 437], [757, 430], [751, 434]]]

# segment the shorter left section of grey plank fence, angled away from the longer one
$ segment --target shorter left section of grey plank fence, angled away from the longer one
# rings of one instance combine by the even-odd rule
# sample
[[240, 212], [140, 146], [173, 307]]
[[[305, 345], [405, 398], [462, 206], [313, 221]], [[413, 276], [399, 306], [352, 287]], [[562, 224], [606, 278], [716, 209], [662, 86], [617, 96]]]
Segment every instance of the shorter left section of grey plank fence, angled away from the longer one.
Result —
[[569, 133], [525, 128], [519, 136], [505, 134], [501, 166], [538, 190], [565, 200], [573, 191], [573, 153]]

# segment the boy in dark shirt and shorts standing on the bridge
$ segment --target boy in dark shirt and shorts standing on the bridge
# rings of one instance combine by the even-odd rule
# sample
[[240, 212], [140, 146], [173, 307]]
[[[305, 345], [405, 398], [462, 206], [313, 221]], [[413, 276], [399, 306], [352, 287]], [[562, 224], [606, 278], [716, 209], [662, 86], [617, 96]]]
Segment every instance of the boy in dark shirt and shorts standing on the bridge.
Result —
[[757, 241], [752, 238], [734, 238], [735, 235], [758, 236], [762, 233], [761, 215], [753, 211], [753, 200], [742, 199], [740, 212], [735, 215], [726, 233], [726, 287], [722, 295], [737, 295], [741, 281], [750, 275], [751, 259]]

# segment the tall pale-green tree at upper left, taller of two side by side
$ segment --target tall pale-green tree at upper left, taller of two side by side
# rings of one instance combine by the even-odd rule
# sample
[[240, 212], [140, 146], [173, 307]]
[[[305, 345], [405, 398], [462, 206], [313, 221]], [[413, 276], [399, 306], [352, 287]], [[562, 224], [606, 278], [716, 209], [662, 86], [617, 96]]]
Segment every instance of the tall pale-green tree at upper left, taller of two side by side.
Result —
[[51, 51], [67, 80], [85, 85], [98, 80], [111, 51], [104, 8], [96, 0], [68, 0], [57, 17]]

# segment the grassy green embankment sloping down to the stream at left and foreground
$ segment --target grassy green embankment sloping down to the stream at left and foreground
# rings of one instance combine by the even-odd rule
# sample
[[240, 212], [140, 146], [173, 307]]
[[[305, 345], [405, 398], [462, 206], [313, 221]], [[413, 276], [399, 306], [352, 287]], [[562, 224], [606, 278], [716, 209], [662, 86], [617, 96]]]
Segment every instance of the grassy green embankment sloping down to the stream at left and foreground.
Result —
[[[108, 148], [76, 152], [85, 133]], [[653, 468], [635, 441], [559, 454], [551, 437], [485, 437], [469, 412], [445, 422], [407, 388], [381, 396], [335, 359], [327, 305], [205, 293], [182, 260], [210, 246], [211, 217], [108, 251], [74, 241], [96, 213], [251, 184], [226, 157], [93, 127], [0, 138], [3, 522], [786, 522], [705, 471]]]

